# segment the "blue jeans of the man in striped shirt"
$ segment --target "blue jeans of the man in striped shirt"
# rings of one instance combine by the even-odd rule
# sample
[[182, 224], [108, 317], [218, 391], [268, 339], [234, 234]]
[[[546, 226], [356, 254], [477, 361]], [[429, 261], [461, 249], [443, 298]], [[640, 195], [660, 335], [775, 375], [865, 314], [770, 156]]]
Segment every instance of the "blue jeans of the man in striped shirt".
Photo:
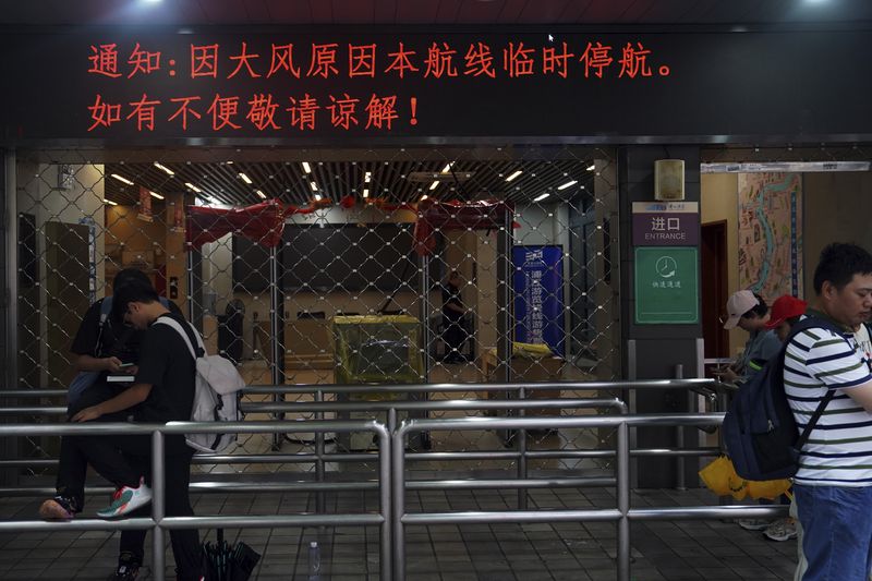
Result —
[[794, 485], [808, 569], [802, 581], [865, 581], [872, 565], [872, 486]]

